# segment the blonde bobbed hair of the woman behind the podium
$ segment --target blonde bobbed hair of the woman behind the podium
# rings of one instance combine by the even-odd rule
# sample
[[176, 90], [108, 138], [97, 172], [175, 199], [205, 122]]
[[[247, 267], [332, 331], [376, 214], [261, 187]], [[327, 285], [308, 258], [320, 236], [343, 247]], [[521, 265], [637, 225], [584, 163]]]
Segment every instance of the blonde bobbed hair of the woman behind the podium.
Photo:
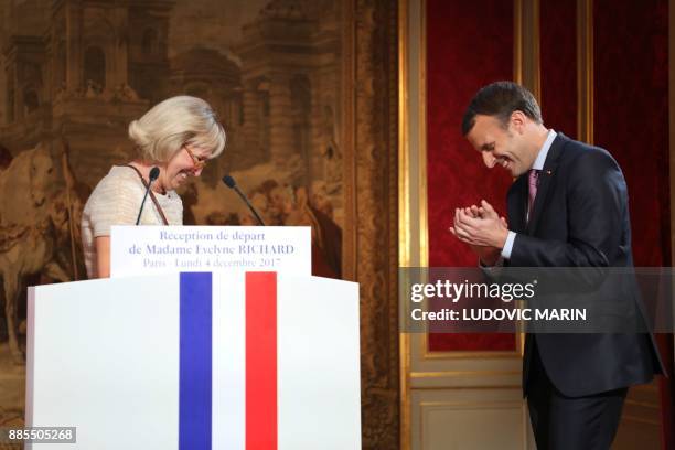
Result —
[[146, 161], [167, 162], [185, 144], [208, 149], [211, 158], [225, 148], [225, 130], [211, 106], [188, 95], [168, 98], [129, 124], [129, 139]]

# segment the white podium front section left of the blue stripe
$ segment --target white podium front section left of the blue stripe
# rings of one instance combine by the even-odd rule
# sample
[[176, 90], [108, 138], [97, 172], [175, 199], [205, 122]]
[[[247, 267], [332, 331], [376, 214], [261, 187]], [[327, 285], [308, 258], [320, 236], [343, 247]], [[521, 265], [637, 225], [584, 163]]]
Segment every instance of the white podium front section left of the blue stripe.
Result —
[[77, 427], [55, 448], [178, 449], [179, 291], [178, 275], [35, 288], [29, 419]]

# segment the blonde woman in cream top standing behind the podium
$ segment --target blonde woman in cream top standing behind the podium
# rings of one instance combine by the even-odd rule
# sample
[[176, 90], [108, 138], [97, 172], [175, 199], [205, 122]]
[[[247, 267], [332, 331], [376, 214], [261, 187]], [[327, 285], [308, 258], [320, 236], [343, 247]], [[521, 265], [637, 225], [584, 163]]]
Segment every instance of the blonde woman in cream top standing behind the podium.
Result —
[[110, 275], [111, 225], [182, 225], [175, 189], [225, 148], [225, 130], [201, 98], [171, 97], [129, 124], [137, 157], [114, 165], [87, 200], [82, 240], [89, 278]]

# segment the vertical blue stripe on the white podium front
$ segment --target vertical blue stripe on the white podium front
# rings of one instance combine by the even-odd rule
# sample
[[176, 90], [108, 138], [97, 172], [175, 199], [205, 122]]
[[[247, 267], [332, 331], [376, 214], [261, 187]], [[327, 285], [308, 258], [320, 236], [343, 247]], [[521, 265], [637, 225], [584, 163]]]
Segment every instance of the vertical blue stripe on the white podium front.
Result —
[[179, 450], [211, 450], [211, 274], [181, 274]]

